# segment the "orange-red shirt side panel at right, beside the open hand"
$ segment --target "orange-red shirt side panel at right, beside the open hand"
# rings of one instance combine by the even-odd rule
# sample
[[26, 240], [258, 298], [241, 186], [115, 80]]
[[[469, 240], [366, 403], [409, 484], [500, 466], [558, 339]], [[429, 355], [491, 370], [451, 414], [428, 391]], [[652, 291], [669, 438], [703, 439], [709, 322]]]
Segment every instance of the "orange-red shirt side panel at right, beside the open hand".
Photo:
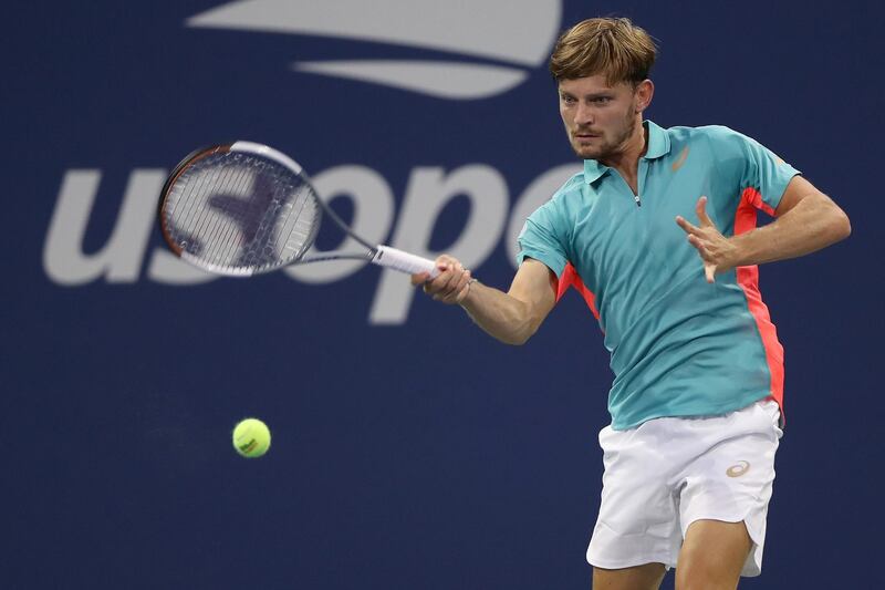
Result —
[[[754, 188], [748, 187], [740, 196], [740, 205], [735, 214], [735, 235], [746, 234], [756, 228], [757, 209], [773, 216], [774, 209], [762, 200], [762, 195]], [[738, 267], [738, 284], [747, 296], [747, 303], [756, 319], [762, 345], [766, 349], [766, 361], [771, 373], [771, 397], [778, 402], [783, 413], [783, 346], [778, 341], [778, 331], [771, 322], [768, 306], [762, 301], [759, 291], [759, 267]], [[781, 414], [783, 415], [783, 414]]]

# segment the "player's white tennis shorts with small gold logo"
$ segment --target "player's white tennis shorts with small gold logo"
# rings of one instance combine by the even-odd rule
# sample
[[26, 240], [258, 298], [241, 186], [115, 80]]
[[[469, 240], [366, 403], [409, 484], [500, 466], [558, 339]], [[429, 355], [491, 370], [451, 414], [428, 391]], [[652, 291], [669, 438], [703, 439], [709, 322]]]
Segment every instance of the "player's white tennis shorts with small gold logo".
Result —
[[771, 400], [710, 417], [665, 417], [600, 432], [605, 474], [587, 561], [604, 569], [677, 567], [689, 525], [747, 525], [753, 548], [741, 576], [759, 576], [774, 453], [783, 432]]

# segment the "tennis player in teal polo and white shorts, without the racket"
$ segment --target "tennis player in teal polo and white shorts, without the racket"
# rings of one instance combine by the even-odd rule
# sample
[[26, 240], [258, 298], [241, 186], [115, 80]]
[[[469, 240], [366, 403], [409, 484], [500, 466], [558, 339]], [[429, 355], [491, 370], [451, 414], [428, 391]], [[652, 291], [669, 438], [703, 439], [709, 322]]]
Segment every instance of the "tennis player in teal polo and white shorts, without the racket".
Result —
[[[658, 588], [676, 568], [680, 590], [731, 590], [761, 570], [782, 434], [783, 349], [757, 266], [821, 249], [851, 226], [756, 141], [644, 121], [656, 53], [627, 19], [566, 31], [550, 69], [584, 169], [527, 220], [510, 290], [449, 256], [435, 279], [412, 280], [510, 344], [576, 288], [615, 374], [593, 587]], [[756, 227], [759, 209], [774, 221]]]

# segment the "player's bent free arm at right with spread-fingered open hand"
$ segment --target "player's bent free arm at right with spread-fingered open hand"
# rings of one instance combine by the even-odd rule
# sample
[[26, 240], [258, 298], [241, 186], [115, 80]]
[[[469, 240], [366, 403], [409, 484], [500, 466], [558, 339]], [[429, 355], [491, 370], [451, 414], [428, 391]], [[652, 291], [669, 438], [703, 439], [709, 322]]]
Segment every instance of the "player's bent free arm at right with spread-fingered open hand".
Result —
[[707, 215], [706, 206], [707, 197], [700, 197], [696, 208], [698, 226], [684, 217], [677, 217], [676, 222], [704, 260], [707, 282], [735, 267], [811, 253], [851, 234], [845, 211], [802, 176], [793, 176], [787, 185], [774, 221], [739, 236], [722, 236]]

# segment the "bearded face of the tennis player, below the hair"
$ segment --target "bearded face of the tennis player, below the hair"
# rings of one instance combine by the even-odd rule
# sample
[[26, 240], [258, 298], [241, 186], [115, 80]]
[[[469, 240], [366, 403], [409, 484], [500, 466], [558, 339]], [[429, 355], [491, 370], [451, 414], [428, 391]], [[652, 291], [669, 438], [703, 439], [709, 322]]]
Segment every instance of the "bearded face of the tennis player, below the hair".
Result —
[[636, 130], [638, 92], [633, 84], [610, 86], [602, 74], [559, 83], [560, 115], [575, 154], [610, 159], [624, 151]]

